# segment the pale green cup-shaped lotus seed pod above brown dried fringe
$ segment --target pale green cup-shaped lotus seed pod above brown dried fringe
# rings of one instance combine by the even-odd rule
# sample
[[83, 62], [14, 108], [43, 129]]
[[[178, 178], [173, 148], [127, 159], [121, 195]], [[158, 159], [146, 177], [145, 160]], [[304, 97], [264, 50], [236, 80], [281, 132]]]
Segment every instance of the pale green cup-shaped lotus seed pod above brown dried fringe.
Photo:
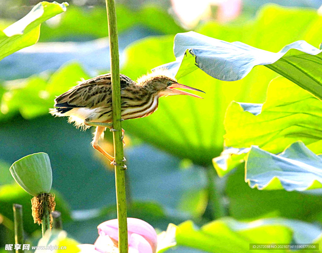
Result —
[[14, 180], [34, 197], [49, 193], [52, 188], [52, 167], [46, 153], [27, 155], [10, 167]]

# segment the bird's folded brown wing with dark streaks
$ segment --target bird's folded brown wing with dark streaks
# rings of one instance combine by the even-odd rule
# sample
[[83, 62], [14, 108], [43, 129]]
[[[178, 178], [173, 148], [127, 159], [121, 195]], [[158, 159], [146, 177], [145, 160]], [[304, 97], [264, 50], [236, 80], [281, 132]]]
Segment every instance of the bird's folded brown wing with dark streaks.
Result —
[[[129, 77], [120, 74], [121, 89], [133, 83]], [[112, 103], [110, 73], [82, 81], [69, 91], [58, 96], [55, 99], [54, 106], [63, 108], [96, 108], [109, 103]]]

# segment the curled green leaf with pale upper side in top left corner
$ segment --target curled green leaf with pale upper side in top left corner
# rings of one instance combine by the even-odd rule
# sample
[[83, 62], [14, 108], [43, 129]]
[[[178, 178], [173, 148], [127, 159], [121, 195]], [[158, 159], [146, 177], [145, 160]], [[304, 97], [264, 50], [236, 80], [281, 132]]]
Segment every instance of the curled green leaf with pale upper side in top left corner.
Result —
[[39, 39], [40, 24], [66, 10], [67, 3], [40, 2], [22, 19], [0, 31], [0, 60]]

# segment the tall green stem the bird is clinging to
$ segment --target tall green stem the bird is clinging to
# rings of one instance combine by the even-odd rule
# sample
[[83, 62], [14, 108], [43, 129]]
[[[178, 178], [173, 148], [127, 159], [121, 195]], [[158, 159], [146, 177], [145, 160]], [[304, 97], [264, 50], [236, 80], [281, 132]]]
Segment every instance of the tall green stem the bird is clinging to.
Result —
[[128, 252], [128, 224], [126, 212], [125, 171], [123, 162], [123, 142], [121, 140], [121, 85], [119, 75], [118, 30], [114, 0], [105, 0], [109, 26], [109, 51], [111, 54], [113, 140], [115, 162], [116, 203], [118, 212], [118, 250]]

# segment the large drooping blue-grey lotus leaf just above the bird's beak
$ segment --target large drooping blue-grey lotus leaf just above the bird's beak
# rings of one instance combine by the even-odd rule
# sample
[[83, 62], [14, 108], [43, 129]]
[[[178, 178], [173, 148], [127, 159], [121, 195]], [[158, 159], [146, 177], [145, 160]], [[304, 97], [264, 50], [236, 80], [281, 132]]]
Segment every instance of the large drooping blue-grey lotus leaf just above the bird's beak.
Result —
[[[212, 77], [223, 81], [244, 78], [256, 65], [265, 65], [285, 76], [300, 87], [322, 100], [321, 50], [305, 41], [284, 46], [278, 53], [261, 50], [250, 45], [218, 40], [195, 32], [175, 35], [175, 63], [165, 67], [177, 73], [179, 79], [196, 69], [202, 69]], [[195, 62], [187, 64], [187, 54], [193, 55]]]

